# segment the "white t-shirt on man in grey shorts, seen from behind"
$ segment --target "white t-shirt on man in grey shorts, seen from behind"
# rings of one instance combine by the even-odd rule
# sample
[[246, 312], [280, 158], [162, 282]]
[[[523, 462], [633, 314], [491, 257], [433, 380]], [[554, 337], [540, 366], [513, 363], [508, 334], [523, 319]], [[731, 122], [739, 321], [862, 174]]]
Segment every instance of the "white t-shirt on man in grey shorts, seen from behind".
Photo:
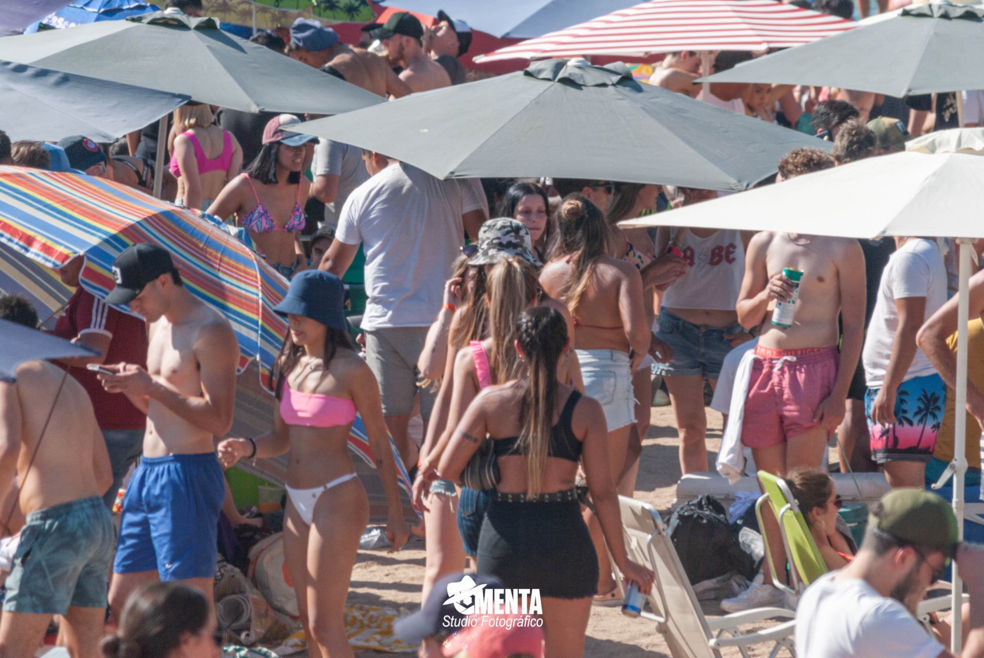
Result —
[[484, 209], [476, 180], [439, 180], [394, 162], [348, 196], [337, 240], [362, 243], [366, 310], [362, 329], [429, 327], [461, 254], [461, 215]]

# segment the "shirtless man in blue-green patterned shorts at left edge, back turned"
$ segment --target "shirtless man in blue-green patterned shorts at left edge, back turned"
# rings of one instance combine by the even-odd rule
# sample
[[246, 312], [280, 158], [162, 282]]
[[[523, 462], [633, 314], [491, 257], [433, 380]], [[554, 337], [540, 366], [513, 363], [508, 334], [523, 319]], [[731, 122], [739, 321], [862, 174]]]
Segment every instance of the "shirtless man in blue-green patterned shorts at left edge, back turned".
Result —
[[[37, 325], [31, 305], [12, 295], [0, 297], [0, 318]], [[115, 535], [102, 504], [113, 479], [109, 455], [89, 395], [74, 378], [44, 361], [22, 364], [16, 378], [0, 383], [0, 489], [18, 479], [27, 523], [7, 578], [0, 656], [33, 656], [52, 615], [64, 617], [62, 639], [73, 656], [94, 656]], [[8, 503], [0, 509], [4, 523], [18, 506], [12, 497]], [[5, 525], [0, 534], [11, 530]]]

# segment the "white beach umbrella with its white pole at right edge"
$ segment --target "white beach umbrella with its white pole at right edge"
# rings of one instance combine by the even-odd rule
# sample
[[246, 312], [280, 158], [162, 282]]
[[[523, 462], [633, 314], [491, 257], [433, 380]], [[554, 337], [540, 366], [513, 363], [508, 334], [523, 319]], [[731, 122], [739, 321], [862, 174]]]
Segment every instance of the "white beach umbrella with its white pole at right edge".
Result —
[[[959, 291], [956, 408], [966, 403], [967, 311], [971, 241], [984, 238], [978, 212], [984, 205], [984, 129], [933, 133], [906, 150], [797, 176], [779, 185], [620, 222], [625, 227], [690, 226], [813, 235], [879, 238], [891, 235], [956, 237]], [[836, 207], [831, 212], [831, 203]], [[955, 415], [953, 462], [939, 488], [953, 475], [953, 512], [963, 519], [967, 463], [966, 415]], [[962, 537], [963, 523], [958, 522]], [[953, 565], [953, 610], [960, 586]], [[953, 616], [953, 651], [959, 652], [959, 615]]]

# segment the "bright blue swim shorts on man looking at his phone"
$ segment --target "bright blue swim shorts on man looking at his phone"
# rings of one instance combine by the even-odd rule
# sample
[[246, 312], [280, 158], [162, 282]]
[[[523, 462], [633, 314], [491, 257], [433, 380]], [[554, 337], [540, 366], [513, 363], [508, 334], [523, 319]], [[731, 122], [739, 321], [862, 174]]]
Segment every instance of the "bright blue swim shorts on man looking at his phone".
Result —
[[145, 457], [123, 499], [116, 573], [161, 580], [215, 576], [225, 481], [214, 452]]

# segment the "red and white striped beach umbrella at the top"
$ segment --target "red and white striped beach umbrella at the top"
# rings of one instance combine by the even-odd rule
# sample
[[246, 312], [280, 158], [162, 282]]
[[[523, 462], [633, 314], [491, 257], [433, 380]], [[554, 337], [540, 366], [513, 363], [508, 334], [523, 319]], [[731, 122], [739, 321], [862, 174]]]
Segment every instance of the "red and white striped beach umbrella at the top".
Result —
[[650, 0], [494, 50], [475, 61], [643, 56], [680, 50], [760, 51], [808, 43], [855, 25], [774, 0]]

